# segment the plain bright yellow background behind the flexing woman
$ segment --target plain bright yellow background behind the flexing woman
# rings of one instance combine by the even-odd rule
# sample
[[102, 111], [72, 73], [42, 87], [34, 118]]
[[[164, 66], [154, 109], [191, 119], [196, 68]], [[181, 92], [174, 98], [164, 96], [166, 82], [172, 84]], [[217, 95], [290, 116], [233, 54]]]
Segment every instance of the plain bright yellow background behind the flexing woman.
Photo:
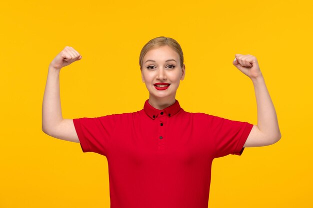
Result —
[[[232, 65], [256, 56], [281, 140], [213, 161], [209, 208], [312, 208], [312, 1], [74, 1], [0, 3], [0, 208], [109, 208], [106, 158], [41, 131], [50, 61], [64, 46], [82, 59], [60, 72], [63, 118], [142, 109], [142, 46], [176, 39], [186, 76], [181, 107], [256, 124], [252, 82]], [[159, 193], [160, 197], [162, 193]]]

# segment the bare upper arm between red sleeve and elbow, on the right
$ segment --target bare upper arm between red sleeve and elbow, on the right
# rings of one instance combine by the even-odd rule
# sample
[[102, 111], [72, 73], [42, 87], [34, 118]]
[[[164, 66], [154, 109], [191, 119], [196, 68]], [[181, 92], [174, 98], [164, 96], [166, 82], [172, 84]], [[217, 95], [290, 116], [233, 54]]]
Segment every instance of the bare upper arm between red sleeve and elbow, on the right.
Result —
[[264, 135], [256, 125], [253, 125], [243, 147], [262, 147], [271, 144], [270, 141], [266, 140], [266, 135]]

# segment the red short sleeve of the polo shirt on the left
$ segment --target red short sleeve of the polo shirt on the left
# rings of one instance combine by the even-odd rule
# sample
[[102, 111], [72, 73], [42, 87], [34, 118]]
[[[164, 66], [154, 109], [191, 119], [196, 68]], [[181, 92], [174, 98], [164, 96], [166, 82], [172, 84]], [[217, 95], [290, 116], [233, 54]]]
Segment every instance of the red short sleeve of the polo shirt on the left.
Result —
[[74, 127], [82, 152], [95, 152], [106, 155], [109, 140], [116, 126], [117, 114], [96, 118], [75, 118]]

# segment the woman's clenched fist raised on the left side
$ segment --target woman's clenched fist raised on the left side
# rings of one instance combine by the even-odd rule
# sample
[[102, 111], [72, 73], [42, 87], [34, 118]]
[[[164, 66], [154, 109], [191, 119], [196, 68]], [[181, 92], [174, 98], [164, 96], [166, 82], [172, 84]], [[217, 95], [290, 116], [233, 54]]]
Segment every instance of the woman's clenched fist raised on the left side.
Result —
[[61, 69], [81, 58], [81, 55], [74, 48], [65, 46], [65, 48], [55, 56], [49, 66], [55, 69]]

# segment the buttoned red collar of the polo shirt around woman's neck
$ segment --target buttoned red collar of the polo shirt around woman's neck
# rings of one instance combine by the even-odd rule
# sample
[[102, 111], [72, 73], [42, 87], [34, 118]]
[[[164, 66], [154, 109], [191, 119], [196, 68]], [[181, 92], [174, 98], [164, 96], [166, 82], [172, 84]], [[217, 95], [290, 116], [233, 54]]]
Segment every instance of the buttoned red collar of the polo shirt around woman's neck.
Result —
[[176, 100], [176, 99], [172, 105], [170, 105], [170, 106], [168, 106], [162, 110], [156, 109], [153, 106], [151, 106], [149, 104], [148, 100], [149, 99], [147, 99], [144, 102], [143, 110], [151, 119], [155, 119], [158, 116], [158, 114], [161, 112], [163, 112], [168, 117], [171, 117], [171, 116], [175, 115], [176, 113], [178, 113], [178, 111], [181, 109], [180, 105], [178, 103], [178, 100]]

